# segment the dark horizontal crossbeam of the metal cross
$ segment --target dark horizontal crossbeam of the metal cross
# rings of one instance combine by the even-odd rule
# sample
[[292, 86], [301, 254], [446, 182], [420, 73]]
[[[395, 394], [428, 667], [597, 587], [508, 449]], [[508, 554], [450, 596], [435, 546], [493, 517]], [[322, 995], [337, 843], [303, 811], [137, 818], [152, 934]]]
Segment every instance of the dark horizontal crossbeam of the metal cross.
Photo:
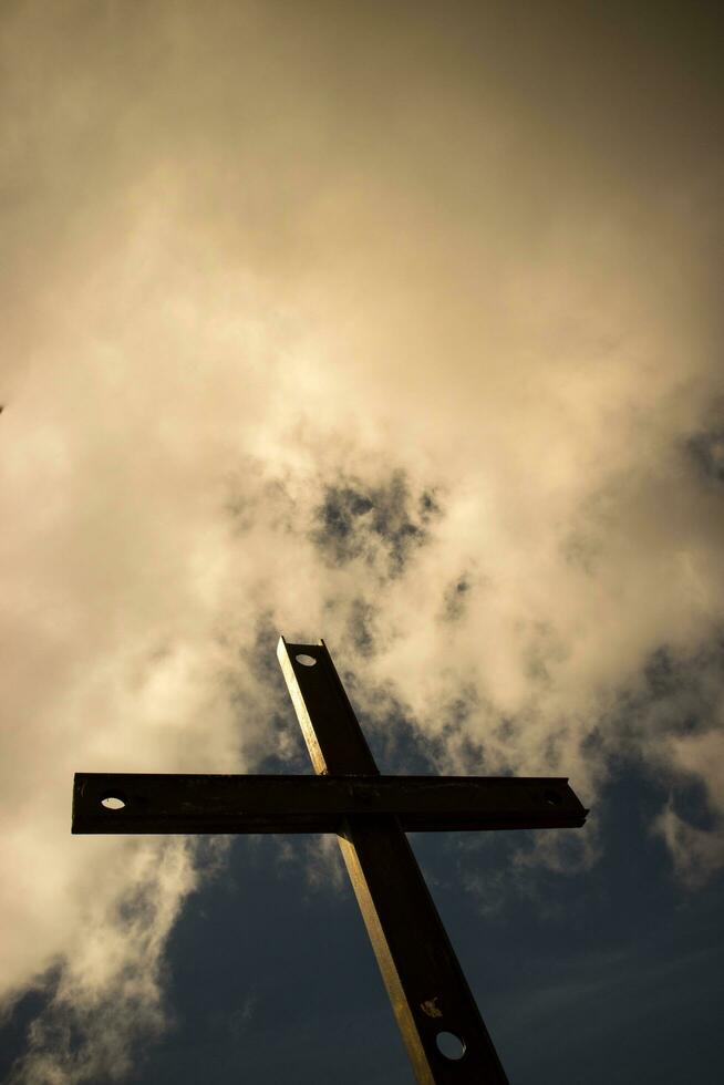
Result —
[[[120, 804], [123, 804], [122, 806]], [[73, 833], [340, 833], [393, 815], [405, 831], [573, 828], [568, 781], [521, 776], [76, 773]]]

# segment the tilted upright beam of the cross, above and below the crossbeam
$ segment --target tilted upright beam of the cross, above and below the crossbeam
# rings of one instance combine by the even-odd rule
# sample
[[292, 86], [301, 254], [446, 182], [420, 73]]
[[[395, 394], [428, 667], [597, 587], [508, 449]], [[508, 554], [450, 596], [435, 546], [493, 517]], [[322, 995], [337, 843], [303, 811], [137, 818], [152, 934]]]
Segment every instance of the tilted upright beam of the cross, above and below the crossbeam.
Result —
[[[277, 654], [314, 771], [377, 775], [324, 642], [280, 638]], [[405, 833], [392, 815], [371, 822], [345, 817], [338, 840], [417, 1082], [508, 1085]], [[459, 1057], [443, 1053], [443, 1033]]]

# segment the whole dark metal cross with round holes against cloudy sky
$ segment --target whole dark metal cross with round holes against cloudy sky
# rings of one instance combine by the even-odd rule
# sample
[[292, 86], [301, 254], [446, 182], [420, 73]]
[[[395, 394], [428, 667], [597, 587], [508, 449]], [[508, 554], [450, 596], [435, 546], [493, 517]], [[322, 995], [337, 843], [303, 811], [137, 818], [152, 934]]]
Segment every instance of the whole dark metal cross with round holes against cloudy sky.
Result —
[[73, 833], [335, 833], [420, 1085], [508, 1078], [408, 831], [583, 825], [561, 777], [382, 776], [324, 641], [277, 655], [317, 776], [76, 773]]

